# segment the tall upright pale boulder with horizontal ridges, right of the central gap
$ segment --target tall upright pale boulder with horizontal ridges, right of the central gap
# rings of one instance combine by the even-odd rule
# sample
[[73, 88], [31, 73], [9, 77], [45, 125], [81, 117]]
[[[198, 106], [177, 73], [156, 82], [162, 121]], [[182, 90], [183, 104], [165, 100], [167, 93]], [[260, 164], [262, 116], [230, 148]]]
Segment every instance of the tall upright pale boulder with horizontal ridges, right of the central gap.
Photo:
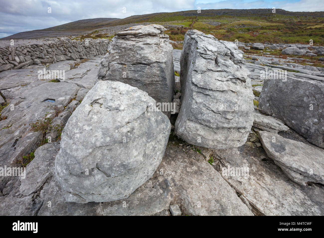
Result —
[[194, 145], [243, 145], [253, 124], [249, 71], [234, 43], [189, 30], [181, 53], [181, 109], [175, 132]]

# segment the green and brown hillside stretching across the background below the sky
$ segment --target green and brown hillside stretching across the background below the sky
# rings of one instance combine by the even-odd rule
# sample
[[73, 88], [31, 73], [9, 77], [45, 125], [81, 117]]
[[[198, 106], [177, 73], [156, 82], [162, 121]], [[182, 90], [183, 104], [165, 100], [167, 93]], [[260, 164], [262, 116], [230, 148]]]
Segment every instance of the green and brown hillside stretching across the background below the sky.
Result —
[[[279, 18], [278, 18], [279, 17]], [[197, 13], [197, 10], [179, 11], [179, 12], [162, 12], [152, 13], [145, 15], [135, 15], [131, 17], [120, 18], [94, 18], [78, 20], [70, 23], [66, 23], [60, 26], [50, 27], [41, 30], [32, 30], [20, 32], [0, 40], [10, 39], [39, 39], [47, 37], [59, 37], [67, 35], [81, 35], [86, 31], [97, 30], [100, 28], [109, 28], [114, 26], [120, 26], [130, 23], [152, 22], [152, 23], [175, 23], [183, 24], [184, 26], [190, 26], [196, 18], [207, 21], [220, 21], [222, 23], [231, 23], [236, 20], [254, 20], [263, 19], [263, 21], [272, 21], [275, 23], [278, 19], [282, 22], [286, 20], [298, 21], [303, 19], [308, 21], [309, 19], [318, 19], [324, 17], [324, 12], [289, 12], [283, 9], [276, 9], [276, 13], [272, 14], [272, 9], [208, 9], [201, 10], [201, 13]], [[225, 19], [226, 18], [226, 19]], [[234, 19], [237, 18], [237, 19]], [[225, 20], [224, 20], [225, 19]], [[230, 20], [230, 21], [229, 21]], [[278, 22], [278, 23], [282, 23]], [[237, 22], [236, 22], [237, 23]], [[235, 23], [235, 24], [236, 24]], [[234, 27], [236, 25], [234, 24]], [[299, 23], [297, 23], [299, 24]], [[260, 27], [261, 25], [250, 27]], [[230, 27], [230, 26], [229, 26]], [[310, 27], [310, 26], [307, 26]], [[203, 29], [201, 29], [203, 30]], [[308, 39], [309, 40], [309, 39]]]

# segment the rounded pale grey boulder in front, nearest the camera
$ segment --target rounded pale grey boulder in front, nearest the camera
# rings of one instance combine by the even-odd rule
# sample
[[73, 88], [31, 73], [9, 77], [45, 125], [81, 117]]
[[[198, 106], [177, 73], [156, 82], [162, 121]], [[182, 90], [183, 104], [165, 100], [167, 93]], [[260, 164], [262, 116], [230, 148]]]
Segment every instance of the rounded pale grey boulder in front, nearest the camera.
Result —
[[121, 82], [100, 81], [62, 132], [55, 176], [68, 202], [127, 198], [153, 176], [171, 124], [154, 99]]

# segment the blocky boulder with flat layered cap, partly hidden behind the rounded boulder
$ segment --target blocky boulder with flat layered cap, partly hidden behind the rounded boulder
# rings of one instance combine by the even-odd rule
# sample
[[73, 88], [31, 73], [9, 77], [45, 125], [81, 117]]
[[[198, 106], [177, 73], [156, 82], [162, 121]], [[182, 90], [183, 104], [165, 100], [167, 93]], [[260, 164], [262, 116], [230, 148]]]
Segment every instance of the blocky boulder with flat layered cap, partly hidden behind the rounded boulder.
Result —
[[[152, 24], [117, 33], [100, 64], [97, 81], [120, 81], [147, 92], [157, 103], [171, 103], [173, 49], [163, 30], [163, 26]], [[170, 110], [164, 113], [169, 116]]]

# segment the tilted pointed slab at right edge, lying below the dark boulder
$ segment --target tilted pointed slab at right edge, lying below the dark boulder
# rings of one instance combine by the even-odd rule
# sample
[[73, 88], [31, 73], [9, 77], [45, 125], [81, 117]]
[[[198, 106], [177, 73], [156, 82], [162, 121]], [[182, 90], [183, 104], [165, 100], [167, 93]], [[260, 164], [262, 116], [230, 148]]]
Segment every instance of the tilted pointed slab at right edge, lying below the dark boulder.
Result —
[[324, 184], [324, 150], [267, 131], [259, 131], [267, 155], [298, 184]]

